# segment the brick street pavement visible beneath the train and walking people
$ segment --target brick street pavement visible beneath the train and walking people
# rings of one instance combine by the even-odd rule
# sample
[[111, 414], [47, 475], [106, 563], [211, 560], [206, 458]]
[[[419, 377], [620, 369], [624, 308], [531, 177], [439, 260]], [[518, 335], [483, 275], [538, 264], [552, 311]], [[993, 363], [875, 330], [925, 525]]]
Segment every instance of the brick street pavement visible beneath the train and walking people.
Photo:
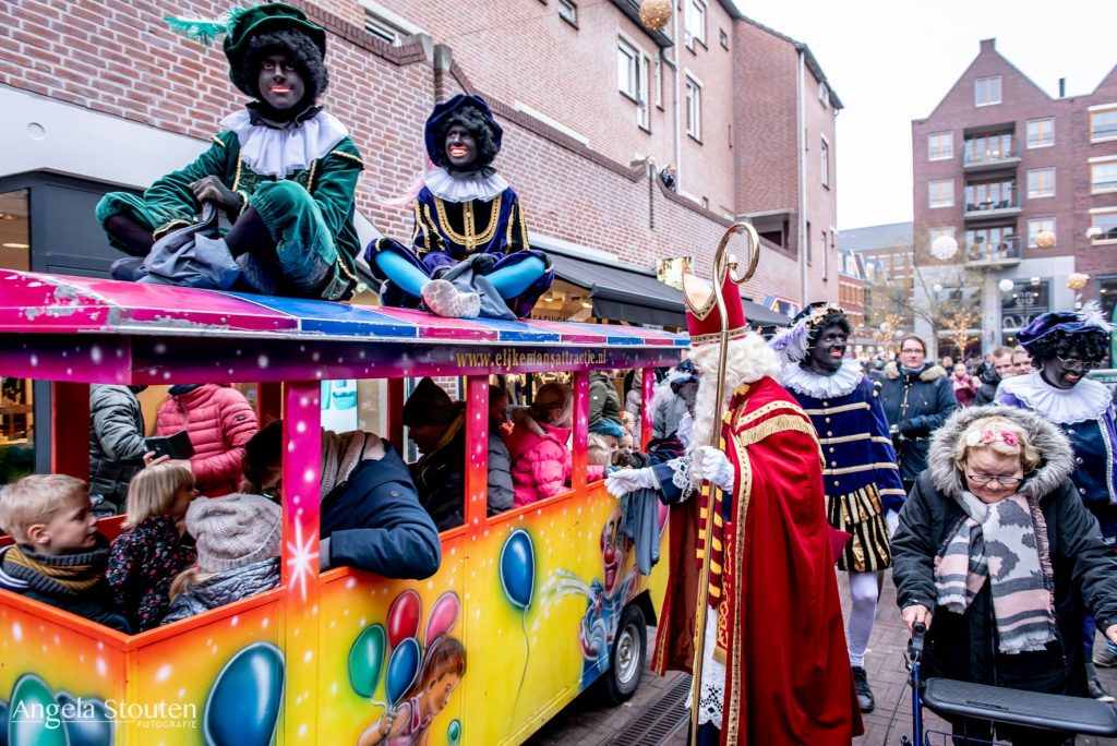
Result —
[[[838, 585], [842, 609], [847, 611], [849, 609], [849, 586], [842, 573], [839, 573]], [[649, 630], [649, 645], [652, 644], [653, 637], [655, 630]], [[892, 708], [898, 698], [901, 697], [901, 691], [903, 698], [899, 699], [900, 704], [896, 710], [896, 719], [887, 743], [889, 745], [899, 744], [901, 736], [910, 737], [911, 735], [910, 692], [904, 691], [904, 685], [907, 680], [907, 671], [904, 669], [904, 650], [907, 648], [907, 629], [900, 621], [899, 611], [896, 609], [896, 589], [891, 578], [886, 577], [877, 611], [877, 623], [872, 629], [869, 652], [866, 657], [866, 670], [869, 672], [869, 681], [877, 698], [877, 708], [865, 716], [866, 733], [860, 738], [855, 739], [856, 746], [882, 746], [886, 743], [885, 734], [888, 730], [888, 723]], [[1106, 688], [1110, 692], [1117, 692], [1117, 669], [1100, 670], [1099, 673]], [[653, 702], [679, 676], [679, 673], [672, 673], [661, 678], [650, 670], [645, 670], [637, 694], [630, 701], [615, 708], [601, 705], [594, 699], [592, 690], [583, 692], [557, 717], [536, 733], [528, 743], [533, 746], [570, 743], [584, 746], [607, 746], [613, 743], [618, 734], [623, 731], [633, 718], [639, 716], [650, 702]], [[666, 746], [686, 745], [686, 711], [681, 708], [679, 718], [682, 726], [663, 742]], [[929, 712], [926, 724], [928, 729], [949, 730], [948, 726]], [[943, 739], [939, 738], [933, 743], [942, 744]], [[1117, 739], [1111, 738], [1080, 737], [1076, 743], [1078, 746], [1117, 746]]]

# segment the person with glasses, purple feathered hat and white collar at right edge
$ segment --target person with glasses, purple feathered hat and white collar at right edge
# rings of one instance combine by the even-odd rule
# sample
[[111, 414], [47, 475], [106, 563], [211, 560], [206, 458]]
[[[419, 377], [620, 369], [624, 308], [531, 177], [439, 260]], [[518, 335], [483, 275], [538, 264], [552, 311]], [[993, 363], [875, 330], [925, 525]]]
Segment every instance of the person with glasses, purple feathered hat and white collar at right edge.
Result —
[[[1019, 334], [1035, 370], [1001, 383], [996, 401], [1031, 410], [1067, 436], [1073, 449], [1070, 478], [1113, 547], [1117, 542], [1117, 418], [1109, 390], [1086, 377], [1106, 358], [1109, 333], [1101, 310], [1092, 303], [1081, 312], [1039, 316]], [[1087, 650], [1094, 647], [1092, 625], [1086, 630], [1086, 645]], [[1113, 701], [1097, 682], [1092, 663], [1117, 664], [1117, 647], [1108, 645], [1092, 658], [1087, 657], [1090, 690], [1095, 698]]]

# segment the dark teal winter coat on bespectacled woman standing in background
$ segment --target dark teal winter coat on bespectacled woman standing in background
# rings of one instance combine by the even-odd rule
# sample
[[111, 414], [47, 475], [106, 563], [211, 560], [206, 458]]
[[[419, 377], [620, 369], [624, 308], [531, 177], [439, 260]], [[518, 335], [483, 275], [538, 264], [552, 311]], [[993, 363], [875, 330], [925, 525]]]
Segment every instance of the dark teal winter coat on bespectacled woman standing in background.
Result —
[[915, 481], [927, 467], [932, 433], [958, 408], [951, 377], [946, 369], [934, 363], [924, 363], [914, 373], [900, 371], [895, 362], [888, 363], [880, 379], [880, 403], [888, 424], [899, 427], [892, 444], [900, 479]]

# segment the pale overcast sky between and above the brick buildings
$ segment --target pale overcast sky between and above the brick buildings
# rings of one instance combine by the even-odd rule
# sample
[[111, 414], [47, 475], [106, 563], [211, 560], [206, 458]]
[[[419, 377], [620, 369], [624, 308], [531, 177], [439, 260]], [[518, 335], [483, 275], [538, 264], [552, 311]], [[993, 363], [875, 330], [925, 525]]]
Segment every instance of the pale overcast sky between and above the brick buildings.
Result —
[[911, 119], [996, 49], [1054, 97], [1090, 93], [1117, 64], [1117, 0], [735, 0], [811, 47], [838, 115], [838, 227], [911, 220]]

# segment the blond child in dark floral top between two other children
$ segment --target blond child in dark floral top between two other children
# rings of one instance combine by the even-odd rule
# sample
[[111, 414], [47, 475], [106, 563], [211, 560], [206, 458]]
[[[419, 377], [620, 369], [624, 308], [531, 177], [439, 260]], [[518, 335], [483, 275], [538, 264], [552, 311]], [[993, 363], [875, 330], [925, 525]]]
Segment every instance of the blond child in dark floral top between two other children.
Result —
[[178, 463], [147, 467], [128, 484], [127, 530], [113, 539], [105, 578], [136, 632], [159, 627], [171, 582], [198, 558], [184, 523], [195, 497], [193, 472]]

